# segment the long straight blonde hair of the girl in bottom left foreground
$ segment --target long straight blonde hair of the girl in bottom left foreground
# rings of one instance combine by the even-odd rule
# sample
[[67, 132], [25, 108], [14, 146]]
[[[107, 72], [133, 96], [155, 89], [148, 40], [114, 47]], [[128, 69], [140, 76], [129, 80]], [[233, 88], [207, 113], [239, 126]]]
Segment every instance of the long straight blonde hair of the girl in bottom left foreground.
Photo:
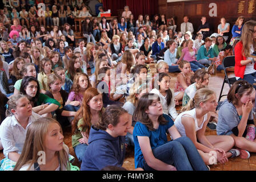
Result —
[[[45, 137], [49, 130], [51, 123], [56, 123], [59, 125], [59, 122], [53, 118], [39, 118], [29, 126], [26, 134], [26, 140], [19, 156], [19, 160], [14, 167], [14, 171], [18, 171], [23, 165], [30, 164], [29, 168], [37, 162], [39, 151], [46, 151], [45, 148]], [[59, 125], [61, 129], [61, 125]], [[62, 129], [61, 129], [62, 133]], [[59, 166], [61, 170], [69, 170], [69, 154], [63, 148], [61, 151], [56, 151], [59, 157]]]

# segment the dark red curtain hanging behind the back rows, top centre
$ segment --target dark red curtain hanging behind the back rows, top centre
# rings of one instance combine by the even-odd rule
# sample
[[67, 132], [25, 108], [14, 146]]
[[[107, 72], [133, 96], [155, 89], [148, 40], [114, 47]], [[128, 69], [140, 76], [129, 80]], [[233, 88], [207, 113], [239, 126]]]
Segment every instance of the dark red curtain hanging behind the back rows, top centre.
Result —
[[142, 14], [143, 17], [148, 14], [153, 18], [158, 14], [158, 1], [156, 0], [102, 0], [104, 10], [111, 10], [111, 15], [118, 16], [117, 10], [123, 10], [126, 5], [129, 6], [134, 18], [137, 19], [138, 15]]

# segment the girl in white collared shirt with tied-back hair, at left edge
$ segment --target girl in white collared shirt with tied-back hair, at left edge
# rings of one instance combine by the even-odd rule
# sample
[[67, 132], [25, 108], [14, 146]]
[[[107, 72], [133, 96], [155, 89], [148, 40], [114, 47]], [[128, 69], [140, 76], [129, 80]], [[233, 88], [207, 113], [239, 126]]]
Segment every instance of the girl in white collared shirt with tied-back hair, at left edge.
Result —
[[1, 171], [12, 171], [21, 155], [28, 127], [39, 114], [32, 112], [30, 101], [23, 94], [13, 96], [6, 104], [7, 117], [0, 126], [0, 138], [5, 159], [0, 162]]

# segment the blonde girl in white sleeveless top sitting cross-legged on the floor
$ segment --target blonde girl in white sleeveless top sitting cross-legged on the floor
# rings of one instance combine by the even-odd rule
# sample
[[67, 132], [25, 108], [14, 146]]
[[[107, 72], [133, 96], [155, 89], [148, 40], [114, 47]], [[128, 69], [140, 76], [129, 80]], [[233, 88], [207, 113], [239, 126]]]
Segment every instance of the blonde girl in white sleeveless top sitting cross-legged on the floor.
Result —
[[[239, 155], [239, 151], [231, 149], [234, 139], [230, 136], [206, 136], [206, 126], [215, 111], [217, 101], [215, 93], [207, 88], [197, 90], [193, 99], [182, 108], [182, 113], [175, 119], [175, 126], [182, 136], [189, 137], [197, 147], [203, 161], [207, 164], [228, 162], [227, 158]], [[214, 160], [212, 156], [214, 157]]]

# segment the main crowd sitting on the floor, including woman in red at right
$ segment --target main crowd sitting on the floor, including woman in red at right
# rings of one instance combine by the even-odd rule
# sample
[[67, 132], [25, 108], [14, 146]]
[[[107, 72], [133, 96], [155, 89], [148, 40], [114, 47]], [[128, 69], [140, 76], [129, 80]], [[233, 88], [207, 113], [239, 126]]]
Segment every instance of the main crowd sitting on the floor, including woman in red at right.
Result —
[[[123, 47], [123, 36], [118, 35], [104, 45], [107, 49], [91, 42], [84, 47], [81, 39], [74, 51], [63, 40], [57, 42], [57, 49], [42, 47], [39, 39], [30, 44], [21, 40], [14, 50], [2, 41], [0, 139], [6, 158], [1, 169], [77, 169], [70, 164], [74, 157], [63, 144], [62, 129], [70, 125], [81, 170], [100, 170], [109, 164], [121, 167], [127, 144], [134, 145], [135, 168], [145, 170], [208, 170], [213, 151], [220, 163], [230, 157], [249, 158], [249, 152], [256, 151], [255, 86], [251, 82], [255, 70], [250, 56], [255, 51], [255, 32], [255, 21], [246, 22], [234, 51], [238, 81], [219, 111], [215, 93], [207, 88], [209, 74], [222, 65], [223, 57], [233, 53], [233, 47], [227, 45], [229, 49], [215, 56], [211, 38], [198, 51], [192, 39], [183, 41], [178, 58], [177, 40], [165, 42], [162, 34], [152, 44], [145, 38], [144, 51], [135, 38], [127, 39]], [[154, 67], [158, 74], [153, 76]], [[173, 90], [168, 73], [174, 69], [180, 73]], [[179, 101], [183, 106], [180, 114], [175, 109]], [[217, 129], [218, 135], [205, 136], [207, 126]], [[46, 141], [41, 142], [45, 146], [33, 147], [35, 140]], [[113, 147], [107, 147], [110, 145]], [[45, 165], [31, 161], [38, 156], [29, 153], [36, 150], [33, 154], [37, 154], [42, 148], [50, 161]], [[94, 148], [101, 150], [95, 152]]]

